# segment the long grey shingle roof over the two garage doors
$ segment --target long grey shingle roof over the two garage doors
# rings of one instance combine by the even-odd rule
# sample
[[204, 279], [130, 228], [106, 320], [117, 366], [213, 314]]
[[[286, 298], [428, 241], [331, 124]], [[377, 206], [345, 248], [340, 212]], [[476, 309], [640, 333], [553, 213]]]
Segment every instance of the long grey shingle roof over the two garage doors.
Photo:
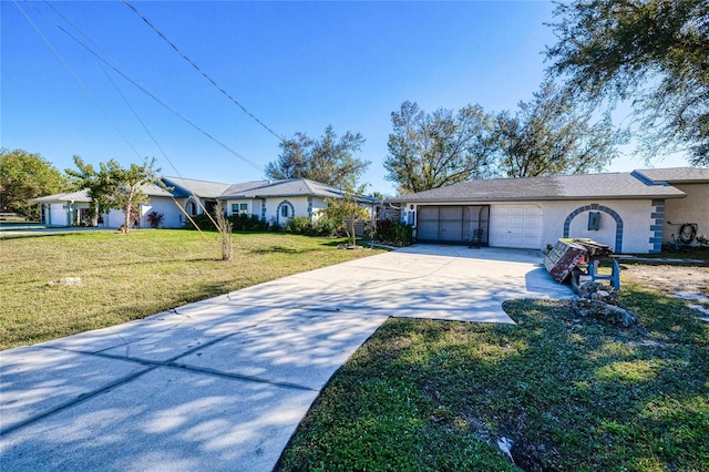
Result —
[[492, 178], [388, 199], [415, 202], [522, 202], [563, 199], [681, 198], [684, 192], [666, 184], [644, 181], [630, 173], [554, 175], [548, 177]]

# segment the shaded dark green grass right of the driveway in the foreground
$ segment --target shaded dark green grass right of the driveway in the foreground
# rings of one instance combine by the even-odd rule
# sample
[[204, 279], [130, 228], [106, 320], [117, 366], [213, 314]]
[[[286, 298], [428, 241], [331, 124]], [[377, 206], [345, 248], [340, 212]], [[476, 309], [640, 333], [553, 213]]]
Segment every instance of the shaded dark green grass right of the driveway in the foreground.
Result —
[[641, 329], [548, 300], [507, 302], [517, 326], [391, 319], [321, 392], [279, 470], [708, 471], [709, 325], [629, 280], [621, 301]]

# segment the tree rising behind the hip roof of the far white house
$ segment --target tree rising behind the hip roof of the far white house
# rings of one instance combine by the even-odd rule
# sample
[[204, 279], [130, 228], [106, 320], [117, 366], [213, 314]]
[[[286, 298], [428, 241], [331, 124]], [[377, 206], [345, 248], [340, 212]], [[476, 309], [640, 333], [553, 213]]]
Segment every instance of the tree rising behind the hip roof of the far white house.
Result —
[[332, 126], [325, 135], [312, 140], [296, 133], [280, 143], [281, 153], [276, 162], [266, 166], [266, 176], [274, 179], [309, 178], [339, 188], [354, 185], [370, 162], [353, 156], [364, 138], [360, 133], [347, 132], [338, 140]]

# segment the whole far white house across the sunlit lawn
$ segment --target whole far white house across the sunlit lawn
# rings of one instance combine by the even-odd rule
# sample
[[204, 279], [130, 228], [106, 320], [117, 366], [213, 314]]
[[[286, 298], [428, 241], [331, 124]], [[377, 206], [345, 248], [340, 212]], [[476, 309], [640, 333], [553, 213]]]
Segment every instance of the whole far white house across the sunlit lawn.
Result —
[[[182, 228], [187, 215], [212, 212], [218, 203], [226, 203], [227, 214], [256, 215], [259, 219], [285, 226], [294, 216], [317, 218], [327, 208], [326, 198], [341, 198], [345, 193], [336, 187], [307, 178], [257, 181], [243, 184], [220, 184], [182, 177], [162, 177], [165, 187], [145, 185], [147, 204], [137, 208], [137, 227], [150, 227], [152, 212], [163, 215], [162, 227]], [[374, 215], [378, 199], [358, 197], [360, 205]], [[49, 195], [30, 202], [41, 205], [42, 223], [52, 226], [89, 225], [91, 198], [86, 191]], [[112, 209], [100, 218], [100, 226], [117, 228], [125, 220], [122, 211]]]

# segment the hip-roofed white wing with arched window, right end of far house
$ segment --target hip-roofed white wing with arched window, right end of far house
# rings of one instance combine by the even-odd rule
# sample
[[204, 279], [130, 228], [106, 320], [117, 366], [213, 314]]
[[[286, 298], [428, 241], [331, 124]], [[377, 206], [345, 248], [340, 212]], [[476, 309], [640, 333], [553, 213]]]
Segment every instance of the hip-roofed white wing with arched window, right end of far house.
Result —
[[[228, 215], [256, 215], [259, 219], [285, 226], [294, 216], [316, 220], [328, 207], [326, 198], [342, 198], [345, 192], [307, 178], [256, 181], [229, 186], [219, 201], [225, 201]], [[379, 201], [358, 196], [361, 206], [376, 215]]]

